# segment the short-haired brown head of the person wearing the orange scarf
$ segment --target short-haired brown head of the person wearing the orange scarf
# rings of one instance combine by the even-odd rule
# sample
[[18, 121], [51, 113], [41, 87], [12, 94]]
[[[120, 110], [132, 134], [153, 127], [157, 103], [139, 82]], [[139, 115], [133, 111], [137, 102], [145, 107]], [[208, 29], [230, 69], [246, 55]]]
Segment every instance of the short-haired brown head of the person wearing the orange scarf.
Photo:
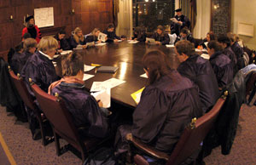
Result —
[[63, 77], [78, 77], [83, 80], [84, 61], [80, 54], [70, 53], [61, 61]]

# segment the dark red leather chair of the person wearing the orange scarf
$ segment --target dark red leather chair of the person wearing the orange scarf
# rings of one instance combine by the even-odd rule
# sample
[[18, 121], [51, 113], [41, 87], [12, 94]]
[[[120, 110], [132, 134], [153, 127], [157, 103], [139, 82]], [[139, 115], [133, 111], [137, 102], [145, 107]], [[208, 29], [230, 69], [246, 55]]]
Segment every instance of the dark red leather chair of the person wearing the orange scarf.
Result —
[[78, 128], [75, 128], [73, 119], [69, 111], [67, 111], [66, 105], [58, 96], [49, 95], [45, 93], [37, 84], [31, 83], [32, 91], [35, 94], [38, 103], [45, 116], [49, 119], [55, 135], [55, 148], [58, 156], [61, 155], [60, 141], [61, 138], [66, 139], [70, 145], [73, 145], [78, 151], [81, 152], [82, 161], [85, 160], [85, 154], [94, 149], [96, 145], [101, 144], [101, 139], [80, 137]]

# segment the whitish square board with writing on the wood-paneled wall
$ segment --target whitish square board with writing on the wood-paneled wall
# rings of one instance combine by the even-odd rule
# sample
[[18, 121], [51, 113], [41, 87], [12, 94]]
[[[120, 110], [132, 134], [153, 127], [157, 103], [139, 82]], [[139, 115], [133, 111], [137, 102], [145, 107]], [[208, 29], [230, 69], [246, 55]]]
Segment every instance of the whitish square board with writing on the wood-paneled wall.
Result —
[[55, 26], [53, 7], [34, 9], [35, 25], [40, 27]]

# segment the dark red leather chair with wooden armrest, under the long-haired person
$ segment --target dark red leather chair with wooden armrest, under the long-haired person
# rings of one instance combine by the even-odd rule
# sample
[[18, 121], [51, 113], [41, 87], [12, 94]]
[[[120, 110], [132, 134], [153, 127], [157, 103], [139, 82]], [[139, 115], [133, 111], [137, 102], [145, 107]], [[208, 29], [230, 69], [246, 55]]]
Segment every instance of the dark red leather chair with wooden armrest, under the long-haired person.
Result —
[[[155, 151], [152, 147], [148, 147], [148, 145], [143, 144], [139, 139], [132, 137], [132, 134], [127, 134], [126, 139], [130, 141], [130, 145], [134, 145], [137, 149], [145, 152], [149, 156], [165, 160], [168, 165], [180, 164], [198, 150], [201, 142], [205, 139], [207, 133], [212, 128], [216, 118], [218, 117], [218, 113], [224, 105], [227, 95], [228, 92], [224, 92], [224, 95], [218, 99], [217, 103], [212, 107], [212, 110], [207, 114], [198, 119], [192, 119], [189, 126], [184, 129], [183, 134], [178, 140], [177, 145], [170, 156], [162, 151]], [[131, 153], [129, 155], [131, 155]], [[137, 165], [148, 165], [148, 162], [143, 158], [143, 156], [136, 155], [133, 159]]]

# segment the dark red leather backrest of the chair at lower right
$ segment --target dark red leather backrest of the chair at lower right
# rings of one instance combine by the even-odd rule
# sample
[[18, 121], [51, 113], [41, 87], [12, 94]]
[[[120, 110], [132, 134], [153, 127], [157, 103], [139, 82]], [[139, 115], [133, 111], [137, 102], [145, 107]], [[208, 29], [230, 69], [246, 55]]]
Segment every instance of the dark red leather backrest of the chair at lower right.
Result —
[[180, 164], [199, 149], [201, 142], [216, 121], [227, 95], [227, 92], [225, 92], [224, 96], [218, 99], [211, 111], [197, 120], [193, 119], [194, 121], [190, 123], [189, 127], [185, 128], [166, 164]]

